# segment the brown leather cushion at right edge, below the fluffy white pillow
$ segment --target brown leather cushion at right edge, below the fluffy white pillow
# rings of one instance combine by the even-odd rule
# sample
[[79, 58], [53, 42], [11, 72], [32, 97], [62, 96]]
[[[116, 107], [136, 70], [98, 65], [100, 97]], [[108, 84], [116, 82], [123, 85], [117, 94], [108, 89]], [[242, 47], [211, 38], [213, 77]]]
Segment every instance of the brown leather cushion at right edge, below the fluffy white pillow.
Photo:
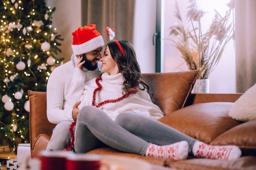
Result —
[[236, 145], [243, 155], [256, 156], [256, 120], [240, 124], [211, 142], [212, 145]]

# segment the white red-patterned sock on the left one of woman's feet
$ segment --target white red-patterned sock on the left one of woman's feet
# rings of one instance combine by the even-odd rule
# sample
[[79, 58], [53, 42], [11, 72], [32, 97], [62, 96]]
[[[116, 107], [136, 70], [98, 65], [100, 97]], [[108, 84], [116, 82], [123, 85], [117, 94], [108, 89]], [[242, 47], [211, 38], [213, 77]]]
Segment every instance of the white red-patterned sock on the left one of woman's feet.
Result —
[[146, 150], [146, 157], [170, 158], [176, 161], [185, 160], [188, 154], [189, 144], [186, 141], [164, 146], [150, 144]]

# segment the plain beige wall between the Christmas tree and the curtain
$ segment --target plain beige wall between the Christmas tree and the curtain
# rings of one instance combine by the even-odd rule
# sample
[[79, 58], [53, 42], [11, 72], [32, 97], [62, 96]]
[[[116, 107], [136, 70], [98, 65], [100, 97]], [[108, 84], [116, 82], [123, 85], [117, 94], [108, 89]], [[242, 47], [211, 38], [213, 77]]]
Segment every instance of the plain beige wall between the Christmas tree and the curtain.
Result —
[[53, 13], [53, 26], [57, 28], [57, 33], [61, 35], [64, 41], [61, 43], [61, 53], [58, 58], [65, 58], [64, 63], [70, 60], [72, 51], [72, 32], [81, 26], [81, 0], [48, 0], [49, 7], [56, 7]]

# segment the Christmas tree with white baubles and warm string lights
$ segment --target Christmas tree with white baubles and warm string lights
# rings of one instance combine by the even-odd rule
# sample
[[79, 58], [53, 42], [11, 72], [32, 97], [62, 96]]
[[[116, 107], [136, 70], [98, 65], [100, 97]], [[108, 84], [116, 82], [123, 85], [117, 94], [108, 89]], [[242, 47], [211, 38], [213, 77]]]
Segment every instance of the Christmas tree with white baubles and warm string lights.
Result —
[[63, 59], [61, 35], [52, 26], [55, 8], [45, 0], [0, 0], [0, 142], [29, 143], [27, 90], [46, 91], [54, 67]]

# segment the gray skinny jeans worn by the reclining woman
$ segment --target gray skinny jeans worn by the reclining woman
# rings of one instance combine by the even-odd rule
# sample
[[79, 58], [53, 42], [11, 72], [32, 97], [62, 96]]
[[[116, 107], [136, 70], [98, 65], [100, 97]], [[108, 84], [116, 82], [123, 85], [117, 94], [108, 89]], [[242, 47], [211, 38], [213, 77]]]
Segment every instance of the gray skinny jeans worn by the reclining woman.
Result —
[[168, 145], [185, 140], [189, 154], [197, 141], [157, 120], [133, 112], [120, 113], [113, 121], [105, 112], [94, 106], [85, 106], [76, 121], [76, 153], [87, 153], [98, 148], [101, 142], [118, 150], [145, 155], [152, 144]]

